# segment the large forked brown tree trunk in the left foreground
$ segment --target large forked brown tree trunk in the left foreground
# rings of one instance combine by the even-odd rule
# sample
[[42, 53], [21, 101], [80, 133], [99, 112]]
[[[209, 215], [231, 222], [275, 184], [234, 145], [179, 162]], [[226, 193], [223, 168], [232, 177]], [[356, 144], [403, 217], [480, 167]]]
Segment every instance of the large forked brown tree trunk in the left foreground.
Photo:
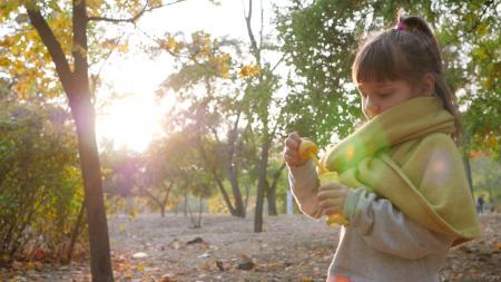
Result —
[[49, 55], [56, 65], [56, 71], [65, 89], [71, 114], [77, 127], [78, 153], [84, 177], [85, 202], [89, 225], [90, 272], [92, 282], [114, 281], [106, 218], [102, 197], [102, 181], [99, 154], [96, 144], [95, 111], [89, 88], [89, 65], [87, 58], [87, 14], [86, 1], [73, 0], [73, 66], [71, 68], [49, 25], [39, 10], [27, 6], [28, 16], [36, 28]]

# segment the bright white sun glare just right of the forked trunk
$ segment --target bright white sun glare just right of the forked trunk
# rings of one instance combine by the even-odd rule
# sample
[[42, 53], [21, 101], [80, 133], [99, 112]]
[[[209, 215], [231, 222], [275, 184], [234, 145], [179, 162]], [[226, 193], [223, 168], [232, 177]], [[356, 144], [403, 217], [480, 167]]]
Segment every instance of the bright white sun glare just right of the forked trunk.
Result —
[[110, 139], [115, 148], [143, 152], [161, 133], [161, 108], [151, 97], [130, 95], [114, 100], [97, 119], [98, 140]]

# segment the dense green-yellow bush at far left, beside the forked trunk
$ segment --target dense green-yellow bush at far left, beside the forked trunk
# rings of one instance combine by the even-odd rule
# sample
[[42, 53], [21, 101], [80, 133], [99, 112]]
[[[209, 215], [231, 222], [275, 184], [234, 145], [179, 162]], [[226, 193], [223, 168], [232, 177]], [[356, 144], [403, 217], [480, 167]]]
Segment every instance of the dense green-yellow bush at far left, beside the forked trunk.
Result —
[[[82, 203], [76, 137], [56, 106], [1, 103], [0, 254], [56, 251]], [[63, 216], [61, 216], [63, 215]]]

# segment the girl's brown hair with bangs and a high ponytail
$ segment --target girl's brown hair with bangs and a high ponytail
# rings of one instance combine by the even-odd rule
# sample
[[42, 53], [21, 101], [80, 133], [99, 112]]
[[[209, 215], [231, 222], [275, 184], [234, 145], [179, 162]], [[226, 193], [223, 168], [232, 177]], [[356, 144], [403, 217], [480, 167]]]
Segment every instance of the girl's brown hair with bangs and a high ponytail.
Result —
[[404, 79], [412, 85], [425, 74], [435, 79], [435, 94], [454, 116], [452, 138], [460, 145], [461, 116], [454, 94], [445, 82], [442, 57], [436, 38], [428, 23], [419, 17], [405, 17], [399, 11], [395, 28], [369, 38], [358, 49], [352, 67], [353, 81], [384, 81]]

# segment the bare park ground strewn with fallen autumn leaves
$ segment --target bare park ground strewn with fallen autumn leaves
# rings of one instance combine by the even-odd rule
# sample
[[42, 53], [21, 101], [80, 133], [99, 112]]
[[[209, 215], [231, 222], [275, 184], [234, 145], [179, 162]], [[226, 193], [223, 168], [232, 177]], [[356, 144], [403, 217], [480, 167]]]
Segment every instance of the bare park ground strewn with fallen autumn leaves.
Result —
[[[324, 281], [340, 230], [304, 215], [252, 218], [203, 216], [193, 228], [183, 215], [109, 218], [116, 281]], [[482, 215], [482, 236], [454, 247], [442, 281], [501, 281], [501, 214]], [[0, 281], [89, 281], [86, 260], [70, 265], [0, 269]]]

